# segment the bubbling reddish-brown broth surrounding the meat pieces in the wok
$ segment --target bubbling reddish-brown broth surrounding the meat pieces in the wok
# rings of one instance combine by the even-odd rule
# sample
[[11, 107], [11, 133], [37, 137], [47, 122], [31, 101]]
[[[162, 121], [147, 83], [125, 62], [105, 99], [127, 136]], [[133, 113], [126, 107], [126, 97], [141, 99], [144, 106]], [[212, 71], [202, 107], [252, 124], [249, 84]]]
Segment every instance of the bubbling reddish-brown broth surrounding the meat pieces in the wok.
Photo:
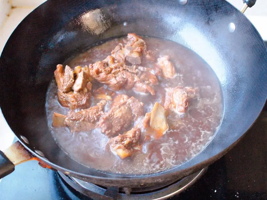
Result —
[[[146, 94], [139, 92], [138, 88], [135, 87], [136, 85], [127, 90], [125, 89], [126, 86], [124, 83], [124, 86], [116, 91], [115, 89], [110, 89], [111, 86], [107, 87], [107, 84], [99, 83], [96, 80], [92, 81], [92, 96], [90, 97], [88, 108], [98, 105], [97, 103], [100, 102], [101, 99], [95, 98], [94, 91], [103, 85], [106, 91], [109, 89], [110, 92], [113, 92], [112, 100], [106, 100], [104, 104], [103, 113], [108, 113], [112, 109], [113, 100], [118, 94], [127, 95], [129, 98], [134, 97], [143, 103], [143, 114], [138, 116], [136, 120], [132, 119], [131, 124], [122, 128], [120, 132], [113, 135], [105, 135], [105, 132], [101, 132], [103, 127], [99, 125], [96, 125], [96, 127], [88, 131], [70, 131], [70, 128], [67, 126], [53, 127], [54, 112], [67, 115], [70, 108], [63, 107], [59, 103], [56, 81], [52, 80], [50, 83], [47, 92], [46, 111], [51, 133], [58, 145], [71, 158], [85, 166], [101, 171], [123, 174], [149, 174], [170, 169], [171, 167], [185, 163], [200, 153], [212, 140], [220, 124], [222, 117], [220, 84], [209, 65], [194, 52], [173, 41], [146, 36], [143, 37], [143, 40], [146, 42], [146, 48], [151, 51], [150, 53], [153, 53], [156, 60], [151, 61], [142, 55], [141, 64], [137, 64], [139, 62], [138, 60], [126, 59], [125, 62], [128, 65], [134, 63], [133, 65], [136, 66], [135, 69], [139, 69], [139, 66], [153, 69], [151, 73], [157, 77], [158, 84], [151, 84], [149, 82], [148, 85], [151, 85], [154, 89], [155, 95], [151, 95], [150, 92]], [[112, 39], [98, 44], [86, 52], [67, 60], [64, 66], [69, 65], [74, 69], [77, 65], [84, 67], [85, 65], [104, 60], [108, 55], [111, 55], [112, 50], [119, 43], [123, 42], [125, 43], [125, 38]], [[155, 65], [157, 65], [157, 62], [160, 62], [159, 60], [157, 61], [157, 58], [165, 55], [169, 56], [169, 61], [175, 67], [175, 75], [173, 74], [174, 76], [171, 78], [168, 78], [167, 75], [157, 74], [155, 70]], [[164, 62], [168, 65], [166, 63], [168, 61]], [[164, 73], [164, 70], [162, 68], [161, 72]], [[167, 74], [170, 71], [165, 70], [165, 72]], [[144, 81], [144, 83], [147, 82]], [[191, 87], [196, 92], [196, 94], [194, 93], [194, 98], [190, 99], [190, 101], [183, 102], [185, 105], [179, 107], [180, 112], [174, 112], [171, 109], [168, 110], [168, 105], [166, 107], [167, 89], [176, 88], [177, 86], [183, 89], [185, 87]], [[188, 90], [188, 92], [190, 91]], [[156, 102], [162, 105], [162, 109], [165, 108], [168, 110], [166, 112], [168, 113], [167, 131], [163, 135], [158, 136], [155, 134], [151, 135], [147, 129], [141, 128], [138, 145], [131, 148], [134, 150], [134, 153], [131, 153], [131, 156], [121, 159], [116, 154], [116, 151], [110, 148], [109, 140], [112, 139], [109, 138], [116, 137], [118, 134], [124, 134], [124, 132], [140, 124], [144, 115], [152, 111]], [[174, 106], [178, 106], [178, 104]], [[72, 109], [75, 112], [81, 110], [81, 108], [77, 107]], [[103, 117], [103, 113], [100, 118]], [[125, 116], [121, 117], [125, 118]]]

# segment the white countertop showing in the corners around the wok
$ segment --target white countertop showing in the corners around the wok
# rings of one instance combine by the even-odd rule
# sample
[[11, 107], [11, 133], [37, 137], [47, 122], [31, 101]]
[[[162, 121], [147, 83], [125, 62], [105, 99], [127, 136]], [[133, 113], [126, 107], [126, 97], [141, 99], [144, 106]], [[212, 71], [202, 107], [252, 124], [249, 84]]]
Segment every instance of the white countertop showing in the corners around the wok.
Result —
[[[228, 1], [237, 8], [241, 8], [243, 5], [242, 0]], [[20, 21], [43, 2], [45, 0], [0, 0], [0, 53], [10, 34]], [[12, 9], [11, 6], [13, 7]], [[258, 29], [262, 38], [267, 41], [267, 1], [258, 0], [254, 7], [247, 9], [245, 15]], [[14, 134], [2, 113], [0, 113], [0, 127], [0, 150], [4, 150], [12, 144]]]

